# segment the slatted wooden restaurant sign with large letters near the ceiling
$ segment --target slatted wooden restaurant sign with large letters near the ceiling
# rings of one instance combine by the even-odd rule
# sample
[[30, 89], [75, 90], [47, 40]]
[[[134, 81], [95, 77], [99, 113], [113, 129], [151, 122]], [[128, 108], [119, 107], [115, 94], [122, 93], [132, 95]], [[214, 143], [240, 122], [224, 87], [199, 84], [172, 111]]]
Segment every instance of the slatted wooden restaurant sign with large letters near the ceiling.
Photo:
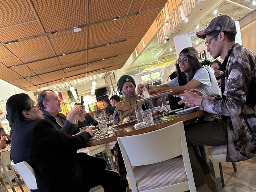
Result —
[[[165, 6], [163, 11], [158, 15], [159, 20], [157, 19], [158, 26], [161, 26], [157, 33], [158, 44], [161, 44], [165, 39], [171, 36], [176, 26], [186, 20], [186, 17], [199, 6], [200, 2], [204, 1], [205, 0], [184, 0], [178, 5], [176, 5], [174, 0], [167, 2], [167, 6]], [[171, 14], [166, 16], [165, 13]], [[160, 17], [163, 17], [162, 15], [164, 15], [164, 18], [167, 18], [163, 25], [160, 24]]]

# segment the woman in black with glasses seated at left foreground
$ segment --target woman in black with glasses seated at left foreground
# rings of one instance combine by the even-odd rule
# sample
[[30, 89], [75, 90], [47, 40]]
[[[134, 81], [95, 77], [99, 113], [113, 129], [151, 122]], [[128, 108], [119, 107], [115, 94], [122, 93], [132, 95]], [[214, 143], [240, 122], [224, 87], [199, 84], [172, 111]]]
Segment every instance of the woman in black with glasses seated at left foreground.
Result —
[[[27, 94], [11, 96], [6, 118], [11, 126], [11, 157], [33, 168], [38, 192], [84, 191], [101, 185], [105, 192], [120, 192], [120, 178], [106, 171], [106, 161], [77, 153], [94, 134], [71, 136], [45, 120], [42, 108]], [[24, 139], [26, 138], [26, 139]]]

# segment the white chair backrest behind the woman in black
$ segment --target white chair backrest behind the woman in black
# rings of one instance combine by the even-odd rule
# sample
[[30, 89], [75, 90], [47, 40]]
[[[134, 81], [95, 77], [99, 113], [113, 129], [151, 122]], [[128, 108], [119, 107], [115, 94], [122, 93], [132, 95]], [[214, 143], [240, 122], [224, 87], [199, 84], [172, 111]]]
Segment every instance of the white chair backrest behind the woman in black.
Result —
[[22, 161], [19, 163], [13, 163], [12, 161], [11, 166], [13, 166], [13, 168], [15, 168], [15, 170], [21, 175], [28, 188], [37, 189], [35, 172], [26, 161]]

